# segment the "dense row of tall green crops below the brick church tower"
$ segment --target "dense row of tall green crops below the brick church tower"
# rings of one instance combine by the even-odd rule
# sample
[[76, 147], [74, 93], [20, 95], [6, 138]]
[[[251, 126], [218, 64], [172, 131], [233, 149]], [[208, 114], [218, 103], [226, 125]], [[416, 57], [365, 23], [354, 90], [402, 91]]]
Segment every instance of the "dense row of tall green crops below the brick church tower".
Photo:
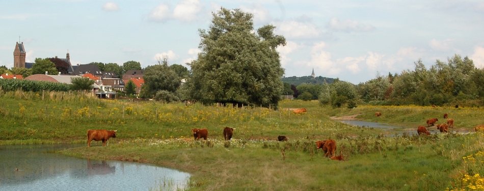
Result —
[[0, 86], [5, 91], [16, 91], [22, 89], [26, 92], [38, 91], [69, 91], [71, 85], [55, 83], [50, 81], [34, 81], [27, 79], [0, 79]]

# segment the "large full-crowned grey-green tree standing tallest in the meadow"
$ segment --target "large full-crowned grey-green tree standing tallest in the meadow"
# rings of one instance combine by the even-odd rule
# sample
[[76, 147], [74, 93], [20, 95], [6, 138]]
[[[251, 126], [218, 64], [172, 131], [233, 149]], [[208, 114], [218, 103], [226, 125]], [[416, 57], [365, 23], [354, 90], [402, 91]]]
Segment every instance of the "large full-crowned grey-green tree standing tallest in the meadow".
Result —
[[204, 103], [244, 103], [276, 106], [283, 84], [279, 53], [284, 37], [273, 25], [254, 32], [253, 15], [221, 8], [212, 13], [208, 30], [199, 30], [198, 60], [193, 61], [190, 96]]

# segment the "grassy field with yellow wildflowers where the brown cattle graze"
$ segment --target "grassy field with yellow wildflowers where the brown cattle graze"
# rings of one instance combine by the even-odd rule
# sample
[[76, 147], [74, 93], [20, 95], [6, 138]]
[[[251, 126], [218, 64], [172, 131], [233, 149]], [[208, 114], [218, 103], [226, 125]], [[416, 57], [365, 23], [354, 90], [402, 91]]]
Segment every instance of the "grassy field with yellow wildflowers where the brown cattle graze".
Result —
[[[456, 128], [470, 130], [483, 123], [481, 108], [348, 110], [285, 100], [282, 110], [269, 110], [28, 92], [3, 93], [0, 104], [0, 144], [86, 143], [88, 129], [117, 129], [107, 147], [93, 142], [91, 148], [60, 152], [189, 172], [191, 190], [461, 190], [484, 184], [482, 133], [385, 137], [379, 129], [330, 119], [361, 114], [366, 121], [416, 128], [448, 113]], [[308, 112], [302, 115], [284, 110], [303, 107]], [[377, 111], [383, 114], [379, 118]], [[223, 141], [225, 126], [236, 128], [230, 142]], [[208, 128], [208, 141], [194, 141], [192, 128]], [[275, 141], [278, 135], [289, 141]], [[315, 141], [329, 138], [345, 161], [329, 160], [316, 149]]]

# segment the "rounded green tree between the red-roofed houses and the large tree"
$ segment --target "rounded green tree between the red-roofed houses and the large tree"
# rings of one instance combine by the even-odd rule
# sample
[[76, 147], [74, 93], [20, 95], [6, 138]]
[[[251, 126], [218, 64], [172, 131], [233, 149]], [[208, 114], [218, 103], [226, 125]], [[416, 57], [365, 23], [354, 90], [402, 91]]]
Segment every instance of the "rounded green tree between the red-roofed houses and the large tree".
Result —
[[145, 85], [142, 86], [140, 94], [147, 98], [157, 97], [160, 90], [175, 93], [181, 84], [181, 78], [168, 67], [167, 58], [158, 65], [146, 67], [143, 78]]

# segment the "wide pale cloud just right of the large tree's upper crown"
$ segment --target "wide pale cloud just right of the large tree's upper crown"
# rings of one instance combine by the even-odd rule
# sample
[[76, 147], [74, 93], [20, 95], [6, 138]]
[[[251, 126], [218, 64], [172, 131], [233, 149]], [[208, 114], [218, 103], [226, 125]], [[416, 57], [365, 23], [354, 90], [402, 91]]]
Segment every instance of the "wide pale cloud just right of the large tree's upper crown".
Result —
[[277, 32], [287, 39], [308, 39], [319, 35], [319, 30], [316, 28], [316, 25], [312, 23], [290, 20], [278, 22], [275, 25], [277, 25]]

